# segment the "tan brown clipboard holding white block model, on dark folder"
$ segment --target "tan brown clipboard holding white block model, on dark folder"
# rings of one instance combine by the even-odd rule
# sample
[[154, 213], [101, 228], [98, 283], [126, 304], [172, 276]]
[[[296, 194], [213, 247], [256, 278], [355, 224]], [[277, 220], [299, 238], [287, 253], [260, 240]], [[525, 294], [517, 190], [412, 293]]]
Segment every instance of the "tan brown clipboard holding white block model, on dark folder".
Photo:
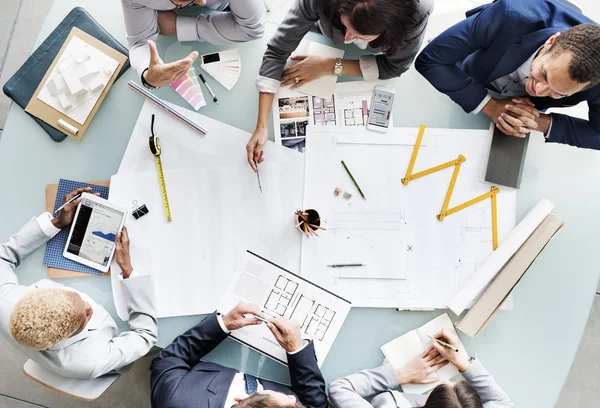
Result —
[[[38, 99], [38, 95], [39, 95], [40, 91], [42, 90], [42, 88], [44, 87], [46, 82], [48, 81], [50, 74], [54, 71], [54, 67], [56, 66], [56, 64], [61, 60], [63, 52], [65, 51], [65, 49], [67, 48], [67, 45], [69, 44], [69, 42], [71, 41], [71, 39], [73, 37], [78, 37], [82, 41], [88, 43], [89, 45], [93, 46], [94, 48], [97, 48], [98, 50], [102, 51], [103, 53], [105, 53], [106, 55], [113, 58], [114, 60], [116, 60], [119, 63], [119, 65], [117, 66], [117, 69], [115, 69], [115, 72], [113, 73], [110, 80], [108, 81], [108, 83], [106, 84], [104, 89], [102, 90], [100, 97], [96, 101], [94, 108], [88, 115], [83, 126], [80, 123], [77, 123], [76, 121], [74, 121], [73, 119], [68, 117], [67, 115], [57, 111], [56, 109], [54, 109], [53, 107], [51, 107], [49, 105], [46, 105], [44, 102], [42, 102]], [[69, 33], [69, 36], [63, 43], [58, 55], [52, 62], [52, 65], [50, 65], [50, 68], [48, 68], [48, 71], [46, 71], [46, 75], [44, 75], [44, 78], [42, 79], [42, 81], [38, 85], [37, 89], [35, 90], [35, 93], [29, 100], [29, 103], [27, 104], [27, 107], [25, 108], [25, 112], [43, 120], [48, 125], [52, 126], [53, 128], [55, 128], [56, 130], [58, 130], [60, 132], [72, 137], [73, 139], [80, 141], [81, 138], [83, 137], [83, 135], [85, 134], [87, 128], [89, 127], [90, 123], [92, 122], [92, 119], [94, 119], [94, 116], [96, 115], [98, 108], [102, 104], [102, 101], [104, 101], [106, 94], [110, 90], [112, 84], [117, 79], [119, 72], [123, 69], [123, 66], [125, 65], [126, 62], [127, 62], [126, 55], [123, 55], [120, 52], [116, 51], [115, 49], [109, 47], [108, 45], [106, 45], [103, 42], [99, 41], [98, 39], [92, 37], [85, 31], [82, 31], [82, 30], [78, 29], [77, 27], [73, 27], [73, 29], [71, 29], [71, 32]], [[69, 131], [68, 129], [66, 129], [65, 127], [59, 126], [59, 124], [58, 124], [59, 120], [62, 120], [63, 122], [66, 122], [67, 125], [70, 125], [71, 127], [77, 129], [77, 133], [73, 133], [73, 132]]]

